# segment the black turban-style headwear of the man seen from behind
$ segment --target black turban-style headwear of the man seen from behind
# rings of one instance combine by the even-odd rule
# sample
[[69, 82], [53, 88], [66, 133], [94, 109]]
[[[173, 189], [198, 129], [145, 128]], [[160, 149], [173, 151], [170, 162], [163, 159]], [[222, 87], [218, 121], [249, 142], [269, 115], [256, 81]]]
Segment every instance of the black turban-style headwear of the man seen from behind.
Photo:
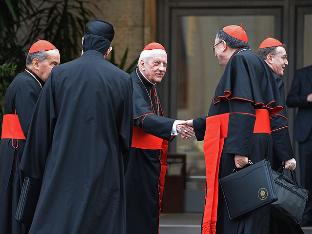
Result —
[[115, 35], [113, 25], [103, 20], [92, 19], [86, 24], [84, 32], [83, 52], [97, 50], [105, 55]]

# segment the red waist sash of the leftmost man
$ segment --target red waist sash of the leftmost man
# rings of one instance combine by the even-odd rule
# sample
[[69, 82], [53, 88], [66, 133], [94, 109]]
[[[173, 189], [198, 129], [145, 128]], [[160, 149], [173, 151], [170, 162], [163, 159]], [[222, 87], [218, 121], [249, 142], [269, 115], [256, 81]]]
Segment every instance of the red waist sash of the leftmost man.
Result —
[[18, 115], [3, 116], [1, 139], [26, 139], [20, 126]]

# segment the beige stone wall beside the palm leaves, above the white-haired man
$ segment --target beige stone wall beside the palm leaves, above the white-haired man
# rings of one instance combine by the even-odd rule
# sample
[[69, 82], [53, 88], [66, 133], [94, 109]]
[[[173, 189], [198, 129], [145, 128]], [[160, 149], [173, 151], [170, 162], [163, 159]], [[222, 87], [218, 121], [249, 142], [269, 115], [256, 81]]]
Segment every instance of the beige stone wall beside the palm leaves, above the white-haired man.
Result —
[[112, 45], [115, 61], [120, 60], [128, 47], [125, 68], [137, 58], [146, 44], [156, 41], [156, 0], [92, 0], [101, 10], [89, 7], [94, 18], [113, 24]]

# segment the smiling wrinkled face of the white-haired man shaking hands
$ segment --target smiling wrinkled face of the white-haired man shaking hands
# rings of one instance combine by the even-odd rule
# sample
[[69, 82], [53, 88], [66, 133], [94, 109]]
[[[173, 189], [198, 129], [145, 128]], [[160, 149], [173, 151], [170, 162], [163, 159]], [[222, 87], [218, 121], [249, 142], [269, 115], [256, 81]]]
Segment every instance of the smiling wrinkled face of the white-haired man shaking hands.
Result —
[[167, 70], [167, 53], [164, 50], [153, 50], [153, 55], [140, 64], [143, 75], [153, 84], [158, 83]]

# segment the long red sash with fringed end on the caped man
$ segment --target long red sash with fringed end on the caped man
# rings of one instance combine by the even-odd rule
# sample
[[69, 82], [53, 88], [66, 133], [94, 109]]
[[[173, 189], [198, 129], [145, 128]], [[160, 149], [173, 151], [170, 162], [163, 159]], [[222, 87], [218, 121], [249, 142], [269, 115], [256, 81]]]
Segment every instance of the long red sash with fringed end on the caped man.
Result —
[[[219, 164], [224, 145], [224, 138], [228, 135], [230, 114], [252, 115], [249, 113], [225, 113], [206, 118], [206, 131], [204, 137], [206, 196], [202, 234], [215, 234], [216, 232]], [[266, 109], [256, 109], [255, 116], [254, 133], [271, 133], [269, 111]]]

